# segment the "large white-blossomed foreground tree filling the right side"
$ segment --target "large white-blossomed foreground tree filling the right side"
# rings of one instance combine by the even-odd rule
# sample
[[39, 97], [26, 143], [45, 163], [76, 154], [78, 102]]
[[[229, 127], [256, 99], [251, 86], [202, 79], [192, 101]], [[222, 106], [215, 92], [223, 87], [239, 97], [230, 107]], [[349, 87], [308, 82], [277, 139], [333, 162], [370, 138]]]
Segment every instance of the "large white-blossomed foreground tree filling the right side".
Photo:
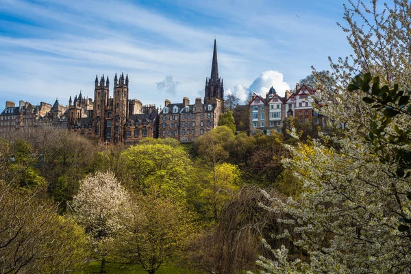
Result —
[[[269, 273], [407, 273], [409, 269], [406, 221], [411, 183], [402, 160], [411, 150], [411, 125], [409, 94], [400, 90], [411, 85], [411, 44], [405, 35], [411, 31], [411, 4], [350, 5], [345, 7], [348, 27], [343, 29], [354, 53], [332, 63], [332, 75], [340, 86], [332, 96], [338, 104], [319, 108], [329, 126], [338, 130], [344, 124], [345, 130], [288, 146], [292, 159], [284, 164], [303, 184], [301, 199], [272, 199], [266, 205], [267, 210], [292, 216], [283, 221], [294, 225], [293, 231], [300, 235], [295, 245], [307, 256], [290, 259], [285, 247], [267, 245], [271, 257], [261, 257], [258, 264]], [[352, 80], [357, 74], [364, 77]], [[378, 77], [372, 86], [371, 75]], [[328, 96], [320, 96], [320, 102]]]

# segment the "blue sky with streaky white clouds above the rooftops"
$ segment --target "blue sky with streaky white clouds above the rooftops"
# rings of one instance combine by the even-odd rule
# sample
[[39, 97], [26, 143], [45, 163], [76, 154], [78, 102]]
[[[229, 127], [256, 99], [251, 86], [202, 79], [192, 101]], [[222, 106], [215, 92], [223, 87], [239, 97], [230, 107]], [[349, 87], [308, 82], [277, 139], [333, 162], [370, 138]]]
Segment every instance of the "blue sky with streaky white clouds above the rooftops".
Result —
[[[93, 97], [96, 75], [129, 76], [129, 99], [194, 103], [214, 38], [225, 93], [280, 95], [351, 53], [345, 0], [0, 0], [0, 104]], [[0, 109], [3, 108], [0, 105]], [[0, 111], [1, 111], [0, 110]]]

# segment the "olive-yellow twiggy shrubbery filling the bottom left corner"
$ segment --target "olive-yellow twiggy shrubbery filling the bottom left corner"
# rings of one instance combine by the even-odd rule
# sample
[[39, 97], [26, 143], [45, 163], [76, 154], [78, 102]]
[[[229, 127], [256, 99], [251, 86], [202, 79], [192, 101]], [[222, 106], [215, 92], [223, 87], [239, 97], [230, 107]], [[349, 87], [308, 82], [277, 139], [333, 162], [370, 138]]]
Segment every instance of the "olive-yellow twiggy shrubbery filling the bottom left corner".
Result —
[[0, 180], [0, 273], [67, 273], [90, 260], [84, 229], [59, 216], [41, 191]]

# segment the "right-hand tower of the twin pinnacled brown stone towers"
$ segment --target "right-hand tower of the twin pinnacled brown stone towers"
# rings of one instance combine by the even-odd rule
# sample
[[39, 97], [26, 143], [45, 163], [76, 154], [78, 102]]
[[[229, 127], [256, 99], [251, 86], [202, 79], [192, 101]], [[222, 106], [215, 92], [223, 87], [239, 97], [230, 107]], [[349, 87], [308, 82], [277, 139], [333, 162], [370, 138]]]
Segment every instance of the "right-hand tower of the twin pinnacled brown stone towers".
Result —
[[129, 79], [128, 75], [124, 78], [124, 73], [121, 73], [119, 82], [117, 82], [117, 74], [114, 77], [114, 96], [113, 96], [113, 116], [114, 116], [114, 144], [124, 141], [124, 125], [129, 117]]

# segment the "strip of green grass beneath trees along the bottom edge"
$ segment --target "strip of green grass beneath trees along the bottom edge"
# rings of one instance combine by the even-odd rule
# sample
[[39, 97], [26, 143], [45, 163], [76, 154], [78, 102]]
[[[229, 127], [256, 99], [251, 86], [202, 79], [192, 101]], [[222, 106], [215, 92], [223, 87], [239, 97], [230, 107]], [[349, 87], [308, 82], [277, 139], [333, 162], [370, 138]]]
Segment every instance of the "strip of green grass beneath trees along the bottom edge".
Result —
[[[89, 264], [86, 269], [84, 269], [84, 274], [98, 274], [100, 273], [101, 262], [92, 262]], [[114, 262], [107, 262], [105, 264], [106, 273], [119, 273], [119, 274], [147, 274], [141, 266], [138, 265], [124, 265], [116, 264]], [[155, 271], [155, 274], [201, 274], [199, 271], [192, 271], [192, 269], [182, 269], [179, 267], [164, 265], [160, 266], [158, 271]]]

